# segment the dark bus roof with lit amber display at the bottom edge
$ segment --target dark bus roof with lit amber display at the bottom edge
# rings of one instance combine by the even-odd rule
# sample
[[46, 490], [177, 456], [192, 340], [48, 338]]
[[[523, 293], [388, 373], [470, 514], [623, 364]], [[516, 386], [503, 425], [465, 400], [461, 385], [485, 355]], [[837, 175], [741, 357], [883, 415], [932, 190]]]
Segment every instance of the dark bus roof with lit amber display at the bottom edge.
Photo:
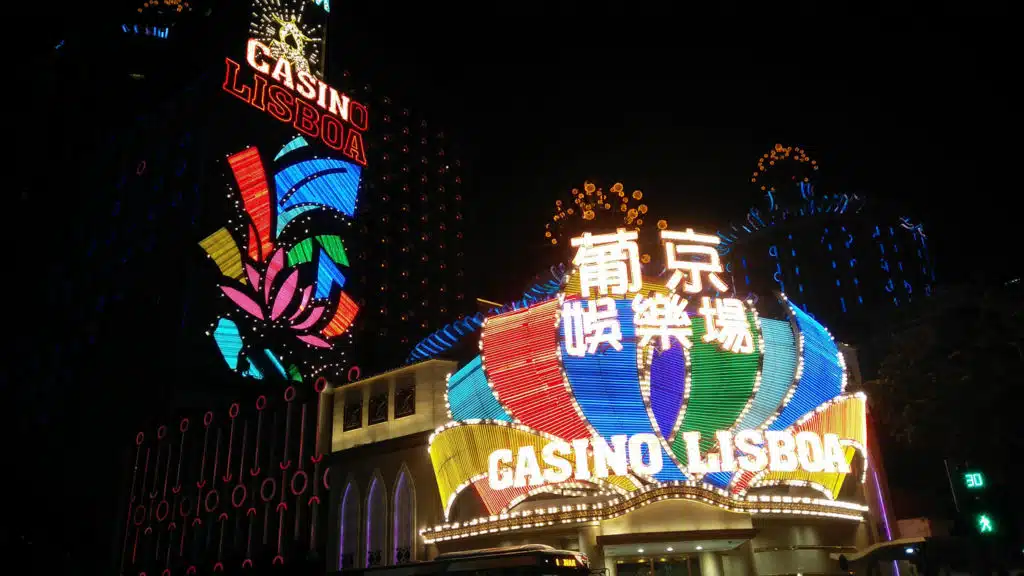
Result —
[[447, 552], [430, 562], [343, 570], [339, 576], [587, 576], [587, 557], [544, 544]]

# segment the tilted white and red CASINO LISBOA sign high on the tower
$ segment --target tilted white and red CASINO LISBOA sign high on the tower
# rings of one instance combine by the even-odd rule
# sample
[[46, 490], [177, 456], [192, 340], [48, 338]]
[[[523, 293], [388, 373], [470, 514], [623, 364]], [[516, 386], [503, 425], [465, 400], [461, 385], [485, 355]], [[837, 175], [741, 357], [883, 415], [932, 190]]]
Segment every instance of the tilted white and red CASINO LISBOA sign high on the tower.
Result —
[[224, 91], [366, 166], [367, 107], [311, 73], [295, 70], [288, 57], [273, 60], [271, 54], [266, 44], [249, 40], [246, 61], [253, 71], [251, 84], [241, 78], [238, 63], [224, 58]]

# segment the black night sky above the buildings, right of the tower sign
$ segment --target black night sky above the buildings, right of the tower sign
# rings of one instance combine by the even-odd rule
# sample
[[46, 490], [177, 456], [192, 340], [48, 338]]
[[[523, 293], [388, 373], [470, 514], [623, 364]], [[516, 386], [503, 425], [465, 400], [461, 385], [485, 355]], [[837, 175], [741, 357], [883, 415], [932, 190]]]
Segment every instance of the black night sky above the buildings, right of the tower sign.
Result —
[[329, 53], [461, 134], [502, 259], [542, 240], [553, 200], [585, 178], [644, 190], [672, 222], [739, 217], [757, 157], [780, 141], [840, 192], [924, 219], [946, 279], [1009, 263], [959, 265], [1011, 234], [1000, 18], [883, 4], [335, 4]]

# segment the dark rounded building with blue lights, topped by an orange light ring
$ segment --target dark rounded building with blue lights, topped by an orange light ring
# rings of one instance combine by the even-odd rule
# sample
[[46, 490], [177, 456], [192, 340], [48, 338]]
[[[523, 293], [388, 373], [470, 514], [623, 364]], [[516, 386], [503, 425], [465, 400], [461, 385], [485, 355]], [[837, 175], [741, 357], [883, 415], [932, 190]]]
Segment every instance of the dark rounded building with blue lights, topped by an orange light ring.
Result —
[[784, 292], [857, 341], [931, 295], [934, 258], [919, 220], [863, 194], [822, 192], [816, 171], [800, 148], [776, 145], [760, 158], [758, 200], [719, 230], [719, 252], [736, 294]]

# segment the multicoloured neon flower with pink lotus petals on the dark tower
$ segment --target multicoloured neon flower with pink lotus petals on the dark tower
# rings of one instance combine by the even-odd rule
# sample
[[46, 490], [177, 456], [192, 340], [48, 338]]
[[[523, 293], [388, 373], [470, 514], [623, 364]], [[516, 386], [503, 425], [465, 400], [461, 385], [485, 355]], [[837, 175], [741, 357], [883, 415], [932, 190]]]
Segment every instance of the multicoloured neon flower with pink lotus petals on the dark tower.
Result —
[[[345, 276], [340, 269], [348, 265], [341, 238], [310, 234], [305, 227], [299, 233], [290, 224], [317, 211], [351, 217], [360, 167], [336, 159], [291, 161], [306, 147], [300, 136], [281, 150], [274, 160], [284, 167], [272, 182], [256, 149], [229, 156], [242, 224], [233, 231], [222, 228], [200, 242], [225, 277], [221, 292], [243, 313], [218, 319], [214, 340], [231, 369], [255, 378], [263, 374], [256, 364], [270, 366], [286, 378], [301, 378], [294, 364], [288, 370], [282, 365], [288, 342], [332, 348], [358, 311], [341, 290]], [[285, 337], [260, 341], [241, 329], [240, 322], [264, 339], [271, 332]], [[244, 341], [243, 333], [252, 341]], [[282, 346], [285, 349], [274, 349]]]

